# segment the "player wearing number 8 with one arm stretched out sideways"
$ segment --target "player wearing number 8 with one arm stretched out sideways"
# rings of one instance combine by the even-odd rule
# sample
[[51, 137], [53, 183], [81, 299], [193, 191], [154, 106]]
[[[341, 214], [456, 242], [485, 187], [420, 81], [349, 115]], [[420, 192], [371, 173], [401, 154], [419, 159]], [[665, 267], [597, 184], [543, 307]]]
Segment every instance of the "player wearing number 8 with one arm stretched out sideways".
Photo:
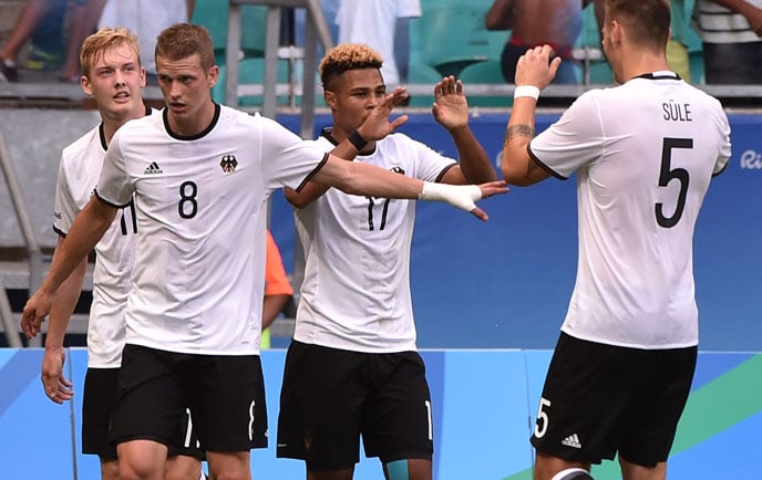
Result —
[[[315, 179], [360, 195], [449, 201], [486, 219], [474, 201], [507, 189], [440, 186], [344, 161], [275, 121], [215, 104], [219, 69], [200, 25], [165, 29], [155, 59], [166, 107], [114, 135], [95, 196], [23, 317], [48, 314], [61, 282], [134, 196], [138, 234], [110, 432], [122, 479], [163, 478], [165, 445], [186, 407], [209, 476], [250, 479], [249, 450], [267, 440], [258, 353], [270, 192]], [[388, 95], [356, 142], [401, 125], [404, 117], [389, 114], [404, 96], [403, 88]]]

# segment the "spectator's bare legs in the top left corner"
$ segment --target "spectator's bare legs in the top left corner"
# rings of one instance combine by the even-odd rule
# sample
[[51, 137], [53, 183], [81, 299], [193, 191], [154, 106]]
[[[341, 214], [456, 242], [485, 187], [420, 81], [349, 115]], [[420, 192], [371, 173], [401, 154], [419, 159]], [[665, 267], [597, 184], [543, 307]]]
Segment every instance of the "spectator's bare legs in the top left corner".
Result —
[[[69, 12], [66, 56], [59, 80], [80, 81], [80, 46], [93, 32], [105, 0], [72, 0]], [[34, 33], [44, 17], [61, 8], [66, 0], [28, 0], [21, 9], [13, 31], [0, 46], [0, 82], [18, 82], [17, 61], [21, 48]]]

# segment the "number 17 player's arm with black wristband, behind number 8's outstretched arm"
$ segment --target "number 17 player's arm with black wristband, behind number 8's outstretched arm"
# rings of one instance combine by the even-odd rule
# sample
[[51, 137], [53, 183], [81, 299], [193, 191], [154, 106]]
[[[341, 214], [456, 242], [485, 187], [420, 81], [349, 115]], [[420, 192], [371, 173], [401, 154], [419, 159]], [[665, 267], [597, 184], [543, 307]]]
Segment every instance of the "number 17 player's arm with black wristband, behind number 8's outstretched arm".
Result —
[[[404, 87], [397, 87], [383, 101], [379, 102], [370, 115], [368, 115], [368, 118], [356, 131], [360, 138], [367, 143], [380, 140], [408, 122], [408, 115], [402, 115], [391, 122], [389, 121], [392, 108], [406, 97], [408, 91]], [[352, 161], [360, 153], [360, 149], [352, 143], [351, 138], [346, 138], [330, 153], [337, 158]], [[289, 204], [297, 208], [303, 208], [323, 195], [329, 188], [329, 185], [309, 181], [299, 191], [286, 188], [284, 192]]]

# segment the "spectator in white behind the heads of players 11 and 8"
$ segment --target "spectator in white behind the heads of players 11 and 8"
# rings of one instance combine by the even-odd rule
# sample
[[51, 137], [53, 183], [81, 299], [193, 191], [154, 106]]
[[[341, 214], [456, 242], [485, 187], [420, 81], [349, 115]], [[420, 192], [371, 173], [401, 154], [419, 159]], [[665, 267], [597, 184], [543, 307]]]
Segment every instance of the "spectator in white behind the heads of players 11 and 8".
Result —
[[[187, 22], [195, 4], [196, 0], [109, 0], [99, 25], [130, 29], [137, 34], [141, 51], [153, 52], [162, 30], [174, 23]], [[154, 83], [156, 62], [153, 55], [145, 55], [143, 65], [148, 72], [150, 83]]]

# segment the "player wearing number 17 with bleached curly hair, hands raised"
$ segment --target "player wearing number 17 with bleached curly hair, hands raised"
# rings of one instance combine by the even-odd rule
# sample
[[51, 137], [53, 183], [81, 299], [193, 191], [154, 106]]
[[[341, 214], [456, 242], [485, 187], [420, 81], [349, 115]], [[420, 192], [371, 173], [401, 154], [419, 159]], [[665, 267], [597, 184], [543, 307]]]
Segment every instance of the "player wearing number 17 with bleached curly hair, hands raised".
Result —
[[[433, 114], [452, 136], [460, 164], [403, 134], [353, 144], [352, 133], [387, 95], [381, 65], [381, 55], [362, 44], [326, 54], [320, 79], [333, 126], [317, 145], [357, 148], [356, 163], [399, 177], [494, 180], [468, 127], [463, 85], [452, 76], [435, 85]], [[367, 456], [380, 458], [387, 479], [431, 479], [432, 405], [410, 292], [415, 204], [316, 182], [286, 190], [286, 198], [296, 207], [306, 267], [284, 372], [278, 457], [305, 460], [309, 480], [348, 480], [362, 435]]]

